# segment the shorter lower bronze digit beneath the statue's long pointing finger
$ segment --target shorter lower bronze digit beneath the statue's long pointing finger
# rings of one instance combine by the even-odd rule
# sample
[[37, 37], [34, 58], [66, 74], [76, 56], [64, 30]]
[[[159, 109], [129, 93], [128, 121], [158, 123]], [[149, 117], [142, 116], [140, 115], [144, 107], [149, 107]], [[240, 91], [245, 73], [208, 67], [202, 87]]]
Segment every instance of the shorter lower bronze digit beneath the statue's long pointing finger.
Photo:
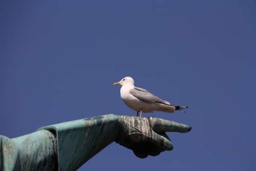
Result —
[[148, 137], [147, 140], [148, 142], [151, 142], [157, 147], [159, 147], [161, 149], [161, 152], [173, 149], [172, 142], [170, 142], [167, 138], [155, 133], [154, 131], [152, 131], [152, 136]]

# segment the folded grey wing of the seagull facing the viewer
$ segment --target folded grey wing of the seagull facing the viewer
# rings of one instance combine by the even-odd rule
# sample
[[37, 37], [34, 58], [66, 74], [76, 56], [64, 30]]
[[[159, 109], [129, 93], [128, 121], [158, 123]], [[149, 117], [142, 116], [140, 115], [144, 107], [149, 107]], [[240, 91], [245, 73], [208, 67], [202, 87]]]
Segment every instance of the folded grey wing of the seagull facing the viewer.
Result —
[[130, 90], [130, 93], [134, 97], [136, 97], [146, 103], [163, 103], [166, 105], [170, 105], [170, 103], [168, 101], [162, 100], [159, 97], [151, 94], [150, 92], [148, 92], [147, 90], [142, 89], [142, 88], [135, 87], [134, 89]]

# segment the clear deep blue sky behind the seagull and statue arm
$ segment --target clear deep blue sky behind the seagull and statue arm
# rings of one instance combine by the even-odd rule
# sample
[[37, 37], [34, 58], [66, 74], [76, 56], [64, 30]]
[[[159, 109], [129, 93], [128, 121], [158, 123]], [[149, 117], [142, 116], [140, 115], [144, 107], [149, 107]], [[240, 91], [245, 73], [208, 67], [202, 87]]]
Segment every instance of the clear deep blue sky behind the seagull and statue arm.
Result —
[[255, 170], [255, 1], [1, 1], [0, 134], [104, 114], [135, 115], [136, 86], [187, 114], [172, 152], [139, 159], [112, 143], [79, 170]]

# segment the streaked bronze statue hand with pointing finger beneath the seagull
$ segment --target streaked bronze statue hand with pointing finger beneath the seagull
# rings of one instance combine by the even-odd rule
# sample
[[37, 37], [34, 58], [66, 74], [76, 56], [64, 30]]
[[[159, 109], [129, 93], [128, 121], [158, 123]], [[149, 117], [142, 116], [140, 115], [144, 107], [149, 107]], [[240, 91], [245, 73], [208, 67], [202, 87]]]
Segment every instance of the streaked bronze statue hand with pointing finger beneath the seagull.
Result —
[[119, 133], [116, 142], [132, 149], [139, 158], [157, 156], [173, 149], [165, 132], [187, 133], [191, 126], [156, 117], [119, 116]]

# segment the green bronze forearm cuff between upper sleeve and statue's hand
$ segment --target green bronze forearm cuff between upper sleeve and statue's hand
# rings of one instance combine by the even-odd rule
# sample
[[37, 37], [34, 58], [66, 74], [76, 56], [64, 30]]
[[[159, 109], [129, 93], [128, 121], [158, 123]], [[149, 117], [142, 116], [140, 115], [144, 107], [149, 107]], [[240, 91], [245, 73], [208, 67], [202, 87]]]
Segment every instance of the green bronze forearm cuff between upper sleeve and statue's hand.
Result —
[[41, 127], [56, 135], [59, 170], [76, 170], [115, 141], [118, 117], [104, 115]]

